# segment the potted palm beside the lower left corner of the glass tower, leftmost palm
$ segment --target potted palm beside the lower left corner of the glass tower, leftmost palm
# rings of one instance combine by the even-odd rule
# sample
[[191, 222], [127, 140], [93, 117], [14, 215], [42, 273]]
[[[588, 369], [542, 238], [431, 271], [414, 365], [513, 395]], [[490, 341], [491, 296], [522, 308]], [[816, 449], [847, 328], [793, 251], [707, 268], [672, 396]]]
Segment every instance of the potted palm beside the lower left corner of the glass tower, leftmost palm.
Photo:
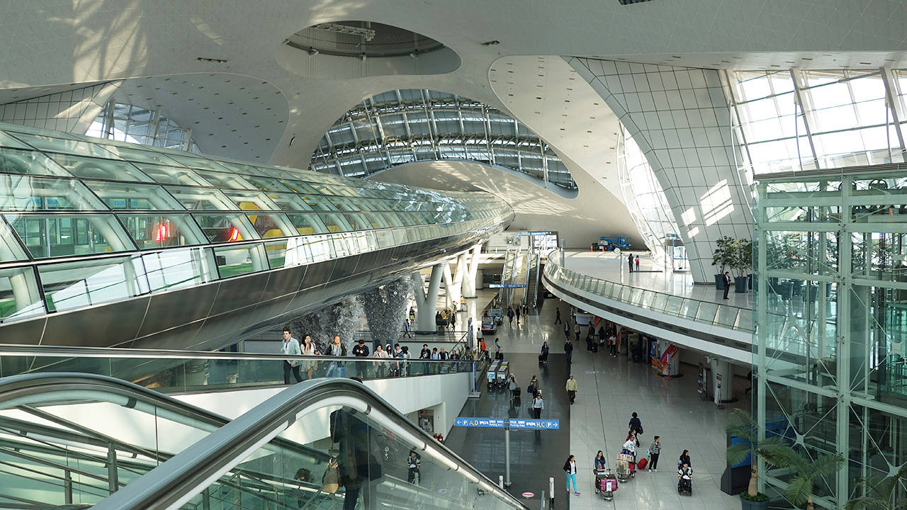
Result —
[[759, 440], [759, 428], [753, 417], [743, 409], [735, 409], [727, 417], [725, 431], [730, 436], [739, 437], [743, 443], [727, 446], [727, 462], [732, 466], [750, 459], [749, 485], [746, 492], [740, 495], [740, 508], [742, 510], [765, 510], [768, 508], [768, 496], [757, 490], [758, 473], [756, 473], [756, 457], [762, 455], [765, 447], [783, 445], [780, 437], [766, 437]]

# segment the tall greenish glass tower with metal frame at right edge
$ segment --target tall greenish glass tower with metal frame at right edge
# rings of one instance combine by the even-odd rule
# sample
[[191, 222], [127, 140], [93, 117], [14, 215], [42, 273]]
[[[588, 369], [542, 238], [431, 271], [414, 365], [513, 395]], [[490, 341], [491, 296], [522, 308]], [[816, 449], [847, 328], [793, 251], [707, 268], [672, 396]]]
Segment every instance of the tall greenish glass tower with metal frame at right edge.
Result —
[[[814, 499], [844, 508], [907, 462], [907, 172], [759, 176], [754, 217], [760, 432], [843, 455]], [[761, 473], [767, 492], [790, 480]]]

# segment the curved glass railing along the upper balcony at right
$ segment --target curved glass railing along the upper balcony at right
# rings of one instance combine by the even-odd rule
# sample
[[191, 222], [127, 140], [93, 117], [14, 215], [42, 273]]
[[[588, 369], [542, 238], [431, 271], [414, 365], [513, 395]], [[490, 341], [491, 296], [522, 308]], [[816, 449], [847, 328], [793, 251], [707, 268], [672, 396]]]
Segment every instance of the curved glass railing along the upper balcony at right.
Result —
[[568, 285], [602, 298], [614, 299], [680, 319], [688, 319], [719, 328], [753, 331], [753, 310], [718, 304], [700, 299], [675, 296], [657, 290], [641, 289], [615, 281], [601, 280], [561, 267], [557, 257], [549, 257], [545, 277], [553, 283]]

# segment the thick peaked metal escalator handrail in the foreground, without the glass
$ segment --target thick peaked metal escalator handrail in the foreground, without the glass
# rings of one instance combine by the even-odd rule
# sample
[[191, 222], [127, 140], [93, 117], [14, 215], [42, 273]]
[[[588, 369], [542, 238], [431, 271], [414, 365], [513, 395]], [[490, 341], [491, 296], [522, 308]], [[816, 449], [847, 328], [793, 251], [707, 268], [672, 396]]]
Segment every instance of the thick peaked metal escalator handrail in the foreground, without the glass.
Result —
[[94, 510], [179, 508], [300, 418], [333, 407], [356, 409], [513, 508], [528, 510], [375, 392], [351, 379], [313, 380], [288, 387], [94, 505]]

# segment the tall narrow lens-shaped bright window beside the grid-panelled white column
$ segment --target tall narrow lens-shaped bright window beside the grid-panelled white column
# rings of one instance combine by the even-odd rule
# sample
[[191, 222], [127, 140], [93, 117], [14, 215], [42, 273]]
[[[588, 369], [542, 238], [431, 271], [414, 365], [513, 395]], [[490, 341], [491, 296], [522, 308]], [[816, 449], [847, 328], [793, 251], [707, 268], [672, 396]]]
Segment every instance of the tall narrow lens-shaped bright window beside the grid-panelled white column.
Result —
[[623, 125], [618, 135], [618, 174], [624, 203], [655, 264], [677, 268], [673, 262], [684, 261], [677, 222], [646, 155]]

